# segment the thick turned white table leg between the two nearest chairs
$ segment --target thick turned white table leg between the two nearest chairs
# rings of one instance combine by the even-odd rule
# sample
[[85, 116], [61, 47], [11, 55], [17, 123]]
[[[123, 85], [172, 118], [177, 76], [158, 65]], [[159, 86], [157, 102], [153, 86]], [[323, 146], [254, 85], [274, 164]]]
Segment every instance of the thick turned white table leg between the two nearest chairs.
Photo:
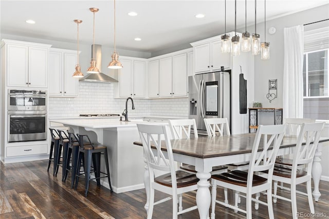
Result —
[[209, 208], [211, 203], [211, 195], [209, 191], [210, 183], [208, 181], [211, 174], [197, 172], [196, 177], [199, 179], [197, 182], [196, 205], [199, 211], [200, 219], [206, 219], [209, 217]]

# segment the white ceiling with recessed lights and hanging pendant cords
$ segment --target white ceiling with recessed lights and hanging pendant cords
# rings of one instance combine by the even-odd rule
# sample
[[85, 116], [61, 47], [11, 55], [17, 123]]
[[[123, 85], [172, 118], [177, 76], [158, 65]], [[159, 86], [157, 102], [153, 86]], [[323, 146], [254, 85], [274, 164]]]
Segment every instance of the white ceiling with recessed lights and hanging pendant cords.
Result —
[[[1, 33], [32, 38], [113, 47], [114, 1], [15, 1], [1, 0]], [[121, 49], [154, 52], [224, 33], [224, 0], [218, 1], [125, 1], [116, 0], [116, 46]], [[227, 0], [226, 30], [234, 30], [234, 1]], [[266, 20], [328, 4], [328, 0], [267, 0]], [[254, 0], [247, 0], [247, 26], [254, 24]], [[135, 11], [137, 16], [127, 13]], [[196, 19], [198, 13], [205, 14]], [[34, 25], [26, 24], [28, 19]], [[264, 0], [257, 1], [257, 23], [264, 22]], [[310, 19], [312, 21], [312, 18]], [[245, 26], [245, 1], [237, 1], [237, 28]], [[254, 30], [248, 30], [253, 33]], [[262, 34], [264, 30], [259, 30]], [[134, 38], [141, 41], [134, 41]]]

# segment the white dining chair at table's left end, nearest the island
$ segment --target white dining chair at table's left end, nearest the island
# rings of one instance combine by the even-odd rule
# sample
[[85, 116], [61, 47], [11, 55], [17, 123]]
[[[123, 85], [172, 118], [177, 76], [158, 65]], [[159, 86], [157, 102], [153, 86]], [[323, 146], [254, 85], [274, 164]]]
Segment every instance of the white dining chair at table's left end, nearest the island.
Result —
[[[191, 174], [182, 170], [175, 170], [173, 152], [166, 126], [137, 124], [137, 128], [143, 144], [144, 154], [147, 158], [150, 175], [149, 210], [147, 218], [152, 218], [155, 205], [170, 199], [172, 199], [173, 204], [172, 218], [176, 219], [177, 215], [179, 214], [197, 209], [197, 206], [195, 205], [184, 210], [177, 210], [178, 199], [182, 196], [182, 194], [197, 190], [198, 178], [195, 176], [195, 174]], [[155, 149], [156, 152], [153, 152], [151, 147]], [[166, 147], [168, 157], [163, 154], [161, 147]], [[155, 171], [165, 171], [169, 173], [155, 176]], [[171, 197], [163, 198], [157, 202], [154, 202], [154, 190], [167, 193], [171, 195]], [[177, 198], [178, 196], [179, 198]]]

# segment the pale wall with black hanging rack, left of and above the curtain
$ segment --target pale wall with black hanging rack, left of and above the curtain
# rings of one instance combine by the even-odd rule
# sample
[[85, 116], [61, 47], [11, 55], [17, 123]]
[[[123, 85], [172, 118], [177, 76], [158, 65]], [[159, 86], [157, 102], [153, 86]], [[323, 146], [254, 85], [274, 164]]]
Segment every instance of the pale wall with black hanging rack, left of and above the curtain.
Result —
[[[328, 19], [329, 4], [321, 7], [309, 9], [295, 14], [280, 17], [275, 20], [266, 22], [266, 41], [270, 42], [270, 59], [261, 60], [260, 56], [255, 57], [255, 101], [261, 102], [263, 107], [282, 107], [282, 89], [283, 89], [283, 64], [284, 64], [284, 38], [283, 29], [296, 25], [304, 25], [316, 21]], [[316, 24], [318, 28], [321, 25], [327, 25], [326, 22]], [[314, 26], [314, 27], [315, 27]], [[269, 34], [268, 28], [275, 27], [276, 33]], [[305, 26], [314, 28], [312, 25]], [[248, 27], [248, 30], [254, 30], [253, 27]], [[257, 30], [261, 35], [262, 42], [264, 41], [264, 23], [257, 25]], [[268, 80], [278, 79], [278, 98], [271, 103], [266, 98], [268, 93]], [[284, 109], [283, 109], [284, 111]], [[284, 112], [283, 112], [284, 113]]]

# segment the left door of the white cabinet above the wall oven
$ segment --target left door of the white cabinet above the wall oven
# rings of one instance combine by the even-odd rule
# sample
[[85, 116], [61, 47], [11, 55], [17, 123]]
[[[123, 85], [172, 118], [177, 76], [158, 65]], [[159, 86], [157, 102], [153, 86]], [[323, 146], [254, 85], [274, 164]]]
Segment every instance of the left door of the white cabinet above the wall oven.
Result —
[[7, 85], [28, 86], [28, 47], [9, 44], [7, 49]]

